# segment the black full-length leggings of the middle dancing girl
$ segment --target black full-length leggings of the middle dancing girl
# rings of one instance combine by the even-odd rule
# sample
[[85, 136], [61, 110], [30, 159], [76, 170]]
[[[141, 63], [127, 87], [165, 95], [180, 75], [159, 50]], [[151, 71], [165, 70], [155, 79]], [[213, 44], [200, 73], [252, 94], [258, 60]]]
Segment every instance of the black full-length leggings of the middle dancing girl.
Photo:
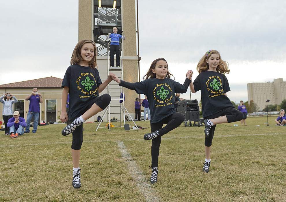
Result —
[[[185, 120], [185, 116], [181, 113], [175, 112], [174, 114], [167, 116], [163, 120], [157, 123], [150, 124], [151, 132], [154, 132], [158, 129], [160, 135], [164, 135], [173, 129], [179, 127], [179, 125]], [[163, 124], [167, 124], [164, 128], [162, 128]], [[161, 144], [161, 136], [152, 139], [151, 146], [151, 156], [152, 156], [152, 167], [158, 166], [158, 157], [159, 157], [159, 148]]]

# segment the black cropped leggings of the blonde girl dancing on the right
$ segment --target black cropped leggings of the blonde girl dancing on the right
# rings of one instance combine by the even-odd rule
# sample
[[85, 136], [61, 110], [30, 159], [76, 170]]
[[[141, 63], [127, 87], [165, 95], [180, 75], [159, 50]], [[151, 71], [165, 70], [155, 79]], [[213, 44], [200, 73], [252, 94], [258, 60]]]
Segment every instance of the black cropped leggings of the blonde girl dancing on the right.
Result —
[[[235, 108], [232, 108], [232, 107], [225, 108], [224, 110], [222, 110], [216, 114], [209, 115], [209, 116], [205, 117], [205, 119], [215, 119], [215, 118], [218, 118], [220, 116], [226, 116], [228, 123], [240, 121], [243, 119], [243, 113], [241, 111], [238, 111]], [[211, 127], [211, 129], [209, 131], [209, 137], [205, 138], [205, 146], [207, 146], [207, 147], [211, 146], [211, 142], [213, 140], [213, 135], [214, 135], [215, 129], [216, 129], [216, 125]]]

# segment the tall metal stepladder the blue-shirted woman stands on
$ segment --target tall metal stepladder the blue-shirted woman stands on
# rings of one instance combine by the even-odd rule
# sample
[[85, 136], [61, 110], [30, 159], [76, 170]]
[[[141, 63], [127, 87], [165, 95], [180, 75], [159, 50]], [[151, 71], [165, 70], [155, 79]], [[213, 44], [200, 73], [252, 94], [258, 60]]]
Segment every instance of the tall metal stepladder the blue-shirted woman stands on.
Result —
[[[109, 75], [109, 71], [120, 71], [120, 77], [118, 77], [118, 78], [120, 78], [121, 80], [123, 80], [123, 63], [122, 63], [122, 48], [120, 48], [120, 67], [109, 67], [109, 51], [108, 51], [108, 48], [109, 48], [109, 45], [110, 45], [110, 43], [111, 42], [117, 42], [117, 43], [120, 43], [120, 45], [121, 45], [121, 47], [122, 47], [122, 43], [120, 42], [120, 41], [109, 41], [108, 42], [108, 44], [107, 44], [107, 76]], [[107, 85], [107, 93], [110, 95], [110, 87], [109, 87], [109, 85], [110, 85], [110, 83]], [[112, 92], [112, 93], [114, 93], [114, 92]], [[135, 122], [134, 122], [134, 120], [133, 120], [133, 118], [131, 117], [131, 115], [129, 114], [129, 112], [127, 111], [127, 109], [125, 108], [125, 104], [124, 104], [124, 102], [125, 102], [125, 95], [124, 95], [124, 88], [122, 87], [122, 86], [120, 86], [120, 94], [122, 93], [122, 97], [123, 98], [111, 98], [111, 100], [118, 100], [118, 101], [120, 101], [120, 100], [122, 100], [122, 103], [123, 103], [123, 109], [122, 109], [122, 103], [120, 103], [120, 127], [124, 127], [124, 126], [121, 126], [121, 113], [123, 112], [123, 120], [124, 120], [124, 125], [125, 125], [125, 116], [126, 116], [126, 114], [125, 114], [125, 111], [127, 112], [127, 114], [129, 115], [129, 118], [132, 120], [132, 122], [134, 123], [134, 125], [135, 125], [135, 127], [137, 128], [137, 129], [139, 129], [138, 127], [137, 127], [137, 125], [135, 124]], [[117, 105], [116, 105], [117, 106]], [[105, 109], [105, 111], [104, 111], [104, 113], [103, 113], [103, 115], [102, 115], [102, 117], [101, 117], [101, 119], [99, 120], [99, 122], [97, 123], [97, 125], [96, 125], [96, 130], [95, 131], [97, 131], [98, 130], [98, 128], [99, 128], [99, 126], [100, 126], [100, 124], [101, 124], [101, 122], [103, 121], [103, 118], [105, 117], [105, 115], [107, 114], [107, 124], [108, 124], [108, 129], [109, 129], [109, 131], [111, 130], [111, 117], [110, 117], [110, 104], [107, 106], [107, 108]], [[129, 119], [129, 120], [130, 120]], [[101, 127], [101, 128], [105, 128], [105, 127]]]

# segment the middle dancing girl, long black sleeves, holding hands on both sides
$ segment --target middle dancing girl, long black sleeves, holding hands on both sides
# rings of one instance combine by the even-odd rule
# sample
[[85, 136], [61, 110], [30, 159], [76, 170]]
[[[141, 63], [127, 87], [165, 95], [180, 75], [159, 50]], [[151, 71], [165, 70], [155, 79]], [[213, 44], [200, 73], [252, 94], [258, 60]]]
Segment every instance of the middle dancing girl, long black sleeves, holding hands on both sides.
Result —
[[[151, 183], [158, 181], [158, 156], [161, 144], [161, 136], [177, 128], [184, 120], [183, 114], [176, 112], [174, 108], [174, 97], [176, 93], [185, 93], [190, 85], [189, 79], [191, 71], [187, 72], [184, 84], [180, 84], [170, 79], [168, 63], [164, 58], [154, 60], [144, 75], [146, 79], [142, 82], [129, 83], [113, 76], [113, 80], [120, 86], [135, 90], [138, 94], [147, 96], [151, 111], [151, 133], [144, 135], [145, 140], [152, 139], [151, 157], [152, 174]], [[173, 75], [172, 75], [173, 76]], [[143, 77], [143, 78], [144, 78]], [[162, 128], [163, 124], [167, 124]]]

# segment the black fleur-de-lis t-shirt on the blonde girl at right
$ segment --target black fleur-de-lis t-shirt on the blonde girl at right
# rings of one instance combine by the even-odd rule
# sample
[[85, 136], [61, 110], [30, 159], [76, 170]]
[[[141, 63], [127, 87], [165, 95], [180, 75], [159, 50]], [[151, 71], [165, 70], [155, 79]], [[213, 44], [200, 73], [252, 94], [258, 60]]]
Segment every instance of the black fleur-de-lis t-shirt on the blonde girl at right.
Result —
[[233, 104], [224, 93], [230, 91], [229, 82], [216, 71], [202, 71], [193, 82], [195, 91], [202, 97], [203, 118], [216, 114]]

